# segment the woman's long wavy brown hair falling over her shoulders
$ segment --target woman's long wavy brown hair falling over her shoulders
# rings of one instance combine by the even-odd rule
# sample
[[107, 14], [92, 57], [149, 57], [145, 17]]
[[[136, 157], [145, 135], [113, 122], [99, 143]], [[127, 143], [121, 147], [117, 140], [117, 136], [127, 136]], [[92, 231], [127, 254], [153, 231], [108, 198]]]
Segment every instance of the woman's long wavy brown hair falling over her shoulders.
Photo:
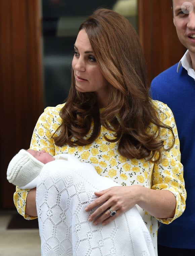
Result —
[[[70, 92], [60, 112], [60, 135], [53, 136], [55, 144], [88, 145], [97, 138], [103, 125], [114, 132], [113, 140], [106, 136], [105, 139], [118, 141], [122, 156], [152, 160], [158, 155], [158, 161], [165, 150], [159, 139], [160, 128], [171, 132], [172, 129], [160, 122], [149, 97], [146, 63], [137, 33], [126, 18], [109, 9], [97, 9], [81, 24], [79, 31], [82, 29], [108, 81], [108, 104], [100, 111], [94, 92], [76, 91], [72, 70]], [[92, 132], [87, 135], [92, 123]], [[155, 134], [147, 132], [150, 123], [156, 125]]]

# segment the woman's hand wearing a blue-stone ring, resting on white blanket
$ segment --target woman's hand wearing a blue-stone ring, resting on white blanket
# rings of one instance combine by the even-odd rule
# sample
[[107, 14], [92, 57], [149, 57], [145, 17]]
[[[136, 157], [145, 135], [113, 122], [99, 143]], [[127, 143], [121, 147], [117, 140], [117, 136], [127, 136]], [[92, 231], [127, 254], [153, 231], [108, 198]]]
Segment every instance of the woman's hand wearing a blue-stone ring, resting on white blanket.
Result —
[[[93, 221], [94, 225], [102, 223], [106, 225], [117, 218], [122, 213], [131, 209], [138, 201], [138, 195], [140, 190], [139, 185], [134, 186], [116, 186], [111, 187], [94, 194], [98, 196], [92, 203], [90, 203], [85, 211], [90, 211], [94, 207], [99, 206], [88, 218], [89, 221]], [[114, 216], [111, 216], [109, 209], [116, 211]], [[97, 218], [102, 214], [100, 217]], [[96, 219], [97, 218], [97, 219]]]

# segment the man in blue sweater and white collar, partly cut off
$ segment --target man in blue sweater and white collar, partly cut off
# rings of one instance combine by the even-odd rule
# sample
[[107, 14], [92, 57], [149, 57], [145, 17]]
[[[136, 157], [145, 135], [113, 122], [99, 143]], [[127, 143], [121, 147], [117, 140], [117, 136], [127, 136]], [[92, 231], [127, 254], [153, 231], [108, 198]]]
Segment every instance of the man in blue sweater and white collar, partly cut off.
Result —
[[170, 225], [158, 230], [158, 256], [195, 255], [195, 0], [172, 0], [173, 23], [188, 49], [179, 63], [151, 84], [153, 99], [173, 111], [180, 139], [181, 162], [187, 191], [186, 210]]

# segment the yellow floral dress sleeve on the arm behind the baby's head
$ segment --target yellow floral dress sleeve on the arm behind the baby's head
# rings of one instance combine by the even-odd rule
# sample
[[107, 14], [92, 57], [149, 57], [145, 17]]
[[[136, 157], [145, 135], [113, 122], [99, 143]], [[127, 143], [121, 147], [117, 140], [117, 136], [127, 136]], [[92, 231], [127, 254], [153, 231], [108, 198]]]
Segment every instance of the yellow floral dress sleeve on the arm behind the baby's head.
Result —
[[[62, 107], [63, 104], [56, 107], [45, 108], [34, 128], [30, 149], [37, 151], [44, 149], [46, 152], [50, 153], [51, 156], [55, 155], [55, 145], [51, 136], [61, 124], [59, 113]], [[31, 220], [37, 217], [30, 217], [25, 214], [26, 198], [29, 191], [29, 189], [23, 190], [16, 186], [13, 201], [18, 213], [25, 219]]]

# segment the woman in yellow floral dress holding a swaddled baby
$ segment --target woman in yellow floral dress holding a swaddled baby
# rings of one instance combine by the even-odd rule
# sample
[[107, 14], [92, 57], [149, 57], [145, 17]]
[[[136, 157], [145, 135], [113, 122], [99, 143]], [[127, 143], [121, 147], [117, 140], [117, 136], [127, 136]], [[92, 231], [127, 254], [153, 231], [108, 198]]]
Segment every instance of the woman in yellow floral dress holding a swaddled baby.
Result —
[[[121, 185], [95, 192], [85, 211], [101, 206], [88, 220], [107, 225], [137, 204], [156, 250], [158, 220], [184, 212], [186, 191], [172, 112], [148, 91], [138, 35], [117, 12], [98, 9], [79, 28], [66, 104], [45, 109], [30, 148], [72, 154]], [[37, 216], [35, 195], [16, 187], [26, 219]]]

